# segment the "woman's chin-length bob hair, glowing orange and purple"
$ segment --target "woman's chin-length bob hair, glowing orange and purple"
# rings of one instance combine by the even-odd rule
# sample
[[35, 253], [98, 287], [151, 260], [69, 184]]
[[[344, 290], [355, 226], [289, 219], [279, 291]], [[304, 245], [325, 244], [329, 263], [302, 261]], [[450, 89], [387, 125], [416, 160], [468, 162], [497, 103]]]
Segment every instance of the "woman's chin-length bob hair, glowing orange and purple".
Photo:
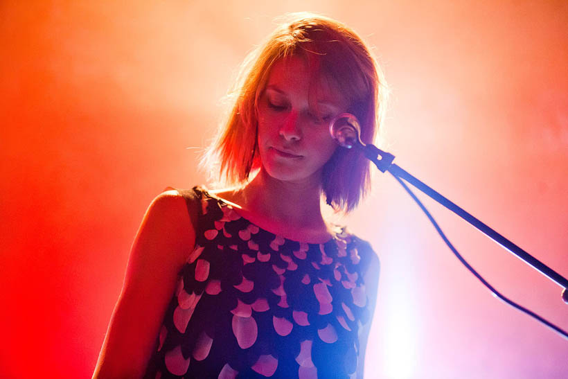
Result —
[[[233, 107], [202, 165], [218, 173], [225, 185], [242, 186], [260, 168], [257, 105], [274, 63], [290, 56], [308, 62], [312, 75], [331, 80], [346, 98], [347, 112], [361, 125], [361, 140], [373, 143], [387, 100], [382, 71], [362, 39], [350, 28], [328, 17], [301, 12], [287, 15], [264, 44], [242, 64], [229, 94]], [[335, 211], [347, 213], [369, 191], [369, 161], [357, 150], [337, 148], [323, 166], [322, 195]]]

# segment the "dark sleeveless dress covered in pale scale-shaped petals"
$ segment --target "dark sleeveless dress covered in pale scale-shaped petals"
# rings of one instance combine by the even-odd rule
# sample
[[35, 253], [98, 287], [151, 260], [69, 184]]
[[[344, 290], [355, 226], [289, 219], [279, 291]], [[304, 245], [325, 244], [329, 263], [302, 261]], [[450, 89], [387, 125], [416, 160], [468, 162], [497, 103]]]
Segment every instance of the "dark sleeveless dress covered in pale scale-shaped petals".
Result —
[[199, 187], [179, 192], [200, 204], [195, 249], [145, 378], [355, 378], [369, 243], [345, 229], [296, 242]]

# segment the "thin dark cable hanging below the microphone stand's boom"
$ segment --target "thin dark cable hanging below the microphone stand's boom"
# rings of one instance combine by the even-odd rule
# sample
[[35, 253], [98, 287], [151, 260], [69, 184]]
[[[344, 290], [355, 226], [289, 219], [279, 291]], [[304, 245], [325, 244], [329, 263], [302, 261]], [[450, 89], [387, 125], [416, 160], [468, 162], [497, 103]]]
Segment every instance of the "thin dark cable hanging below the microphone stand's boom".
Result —
[[547, 321], [546, 319], [540, 317], [539, 315], [537, 315], [535, 312], [533, 312], [532, 310], [526, 309], [524, 308], [524, 306], [520, 306], [519, 304], [515, 303], [515, 301], [512, 301], [510, 299], [508, 299], [507, 297], [504, 297], [504, 295], [502, 295], [499, 291], [495, 290], [495, 288], [493, 288], [492, 285], [490, 285], [485, 279], [483, 279], [483, 277], [474, 270], [474, 268], [467, 262], [465, 261], [465, 259], [463, 258], [463, 256], [461, 256], [461, 254], [459, 254], [459, 252], [456, 250], [456, 248], [454, 247], [454, 245], [452, 245], [452, 243], [450, 243], [450, 240], [447, 239], [447, 237], [445, 236], [444, 232], [442, 231], [442, 229], [440, 228], [440, 226], [438, 225], [438, 222], [436, 222], [436, 220], [434, 220], [434, 217], [430, 214], [430, 212], [426, 209], [426, 207], [424, 206], [424, 204], [422, 204], [422, 202], [420, 202], [420, 200], [418, 199], [418, 197], [416, 197], [416, 195], [414, 195], [414, 192], [411, 191], [411, 189], [407, 186], [407, 184], [400, 179], [400, 177], [398, 177], [397, 175], [395, 175], [393, 172], [391, 172], [391, 170], [388, 170], [389, 173], [391, 173], [391, 175], [393, 175], [393, 177], [400, 183], [400, 185], [402, 186], [402, 188], [405, 188], [405, 190], [407, 191], [407, 193], [410, 195], [410, 197], [412, 197], [412, 199], [416, 202], [416, 204], [418, 204], [418, 206], [420, 206], [420, 209], [422, 209], [422, 211], [425, 213], [425, 215], [427, 216], [427, 218], [430, 220], [430, 222], [432, 222], [432, 224], [434, 225], [434, 228], [436, 229], [436, 231], [438, 232], [438, 234], [440, 235], [440, 237], [442, 238], [442, 240], [445, 242], [445, 244], [447, 245], [447, 247], [450, 247], [450, 250], [452, 250], [452, 252], [454, 253], [454, 255], [459, 259], [459, 261], [461, 263], [463, 263], [463, 265], [470, 270], [470, 272], [472, 274], [474, 274], [474, 276], [479, 279], [479, 281], [481, 281], [481, 283], [483, 283], [483, 285], [485, 285], [491, 292], [492, 294], [497, 297], [498, 299], [501, 299], [502, 301], [504, 301], [505, 303], [507, 303], [508, 305], [512, 306], [513, 308], [517, 308], [518, 310], [525, 312], [527, 315], [537, 319], [538, 321], [542, 322], [542, 324], [548, 326], [549, 328], [551, 328], [552, 330], [556, 331], [556, 333], [560, 334], [562, 337], [564, 337], [565, 339], [568, 340], [568, 333], [565, 332], [565, 330], [562, 330], [561, 328], [559, 328], [558, 326], [552, 324], [551, 322]]

